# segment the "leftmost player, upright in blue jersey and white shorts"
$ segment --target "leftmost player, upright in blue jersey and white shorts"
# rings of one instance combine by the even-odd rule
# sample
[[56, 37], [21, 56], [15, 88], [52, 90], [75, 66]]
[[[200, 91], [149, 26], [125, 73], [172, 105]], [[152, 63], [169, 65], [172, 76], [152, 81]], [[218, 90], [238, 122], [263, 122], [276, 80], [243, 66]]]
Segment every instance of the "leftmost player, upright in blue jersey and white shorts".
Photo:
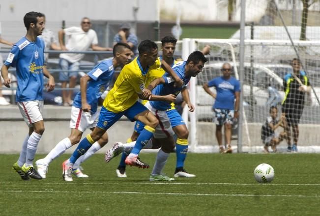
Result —
[[29, 134], [25, 138], [20, 157], [13, 164], [13, 169], [23, 180], [42, 179], [33, 168], [33, 160], [37, 145], [44, 132], [42, 118], [43, 111], [43, 76], [48, 78], [46, 90], [55, 88], [55, 80], [44, 65], [44, 42], [38, 36], [44, 29], [44, 15], [29, 12], [24, 16], [27, 34], [13, 45], [4, 65], [1, 68], [3, 84], [10, 87], [8, 69], [16, 67], [18, 89], [16, 102], [19, 110], [29, 127]]

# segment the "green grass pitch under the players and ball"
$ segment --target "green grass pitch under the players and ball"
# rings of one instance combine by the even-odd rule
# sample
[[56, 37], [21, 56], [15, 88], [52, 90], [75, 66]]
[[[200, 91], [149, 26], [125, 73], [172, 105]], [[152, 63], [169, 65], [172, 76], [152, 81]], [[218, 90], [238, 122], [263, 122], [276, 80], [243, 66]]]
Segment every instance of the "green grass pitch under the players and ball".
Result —
[[[36, 159], [43, 157], [37, 155]], [[64, 182], [63, 155], [52, 162], [45, 180], [22, 181], [11, 165], [18, 155], [0, 157], [1, 216], [278, 216], [319, 215], [320, 172], [317, 154], [189, 154], [186, 168], [196, 178], [149, 182], [149, 169], [127, 168], [116, 177], [118, 159], [94, 155], [83, 164], [87, 179]], [[153, 166], [155, 154], [141, 158]], [[253, 176], [260, 163], [274, 167], [272, 183]], [[151, 167], [152, 167], [151, 166]], [[165, 172], [173, 177], [175, 155]]]

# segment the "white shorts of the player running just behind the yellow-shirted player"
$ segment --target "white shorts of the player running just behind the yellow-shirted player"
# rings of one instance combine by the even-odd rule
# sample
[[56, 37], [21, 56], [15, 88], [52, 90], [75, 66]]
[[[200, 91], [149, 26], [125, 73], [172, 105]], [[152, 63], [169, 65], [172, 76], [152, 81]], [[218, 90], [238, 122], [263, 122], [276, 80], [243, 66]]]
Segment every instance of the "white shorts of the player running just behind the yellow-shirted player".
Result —
[[81, 108], [71, 108], [70, 128], [85, 132], [88, 128], [94, 128], [98, 122], [99, 112], [91, 114], [85, 112]]

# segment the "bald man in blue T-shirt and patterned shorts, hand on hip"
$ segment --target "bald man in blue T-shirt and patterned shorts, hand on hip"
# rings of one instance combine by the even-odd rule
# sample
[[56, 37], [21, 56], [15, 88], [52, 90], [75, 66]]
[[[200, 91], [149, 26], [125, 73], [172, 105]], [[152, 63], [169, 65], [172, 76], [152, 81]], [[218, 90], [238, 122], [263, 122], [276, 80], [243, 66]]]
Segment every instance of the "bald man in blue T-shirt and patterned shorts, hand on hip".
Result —
[[[215, 112], [216, 137], [220, 148], [220, 153], [232, 153], [231, 135], [233, 118], [239, 116], [240, 82], [231, 76], [232, 67], [229, 63], [224, 63], [221, 68], [223, 76], [215, 78], [204, 84], [204, 90], [215, 99], [213, 110]], [[214, 94], [209, 87], [215, 87]], [[235, 99], [235, 102], [234, 102]], [[222, 127], [225, 130], [225, 144], [222, 145]]]

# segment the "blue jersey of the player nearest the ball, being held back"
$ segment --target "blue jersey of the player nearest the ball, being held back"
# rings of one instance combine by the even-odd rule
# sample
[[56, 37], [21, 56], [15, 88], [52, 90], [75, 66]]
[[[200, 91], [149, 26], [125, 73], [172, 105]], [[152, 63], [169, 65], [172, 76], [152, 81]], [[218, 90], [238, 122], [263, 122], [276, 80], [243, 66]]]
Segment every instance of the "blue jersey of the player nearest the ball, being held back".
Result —
[[[188, 82], [190, 81], [191, 77], [185, 77], [184, 75], [184, 69], [185, 69], [186, 61], [179, 62], [174, 65], [172, 68], [175, 73], [178, 75], [178, 77], [183, 81], [183, 85], [181, 87], [174, 87], [174, 79], [170, 77], [168, 73], [165, 73], [163, 76], [165, 83], [157, 85], [153, 90], [152, 94], [155, 95], [168, 95], [168, 94], [174, 94], [177, 96], [181, 89], [184, 88]], [[166, 101], [150, 101], [150, 104], [153, 108], [156, 108], [158, 110], [167, 110], [171, 108], [170, 102]]]

